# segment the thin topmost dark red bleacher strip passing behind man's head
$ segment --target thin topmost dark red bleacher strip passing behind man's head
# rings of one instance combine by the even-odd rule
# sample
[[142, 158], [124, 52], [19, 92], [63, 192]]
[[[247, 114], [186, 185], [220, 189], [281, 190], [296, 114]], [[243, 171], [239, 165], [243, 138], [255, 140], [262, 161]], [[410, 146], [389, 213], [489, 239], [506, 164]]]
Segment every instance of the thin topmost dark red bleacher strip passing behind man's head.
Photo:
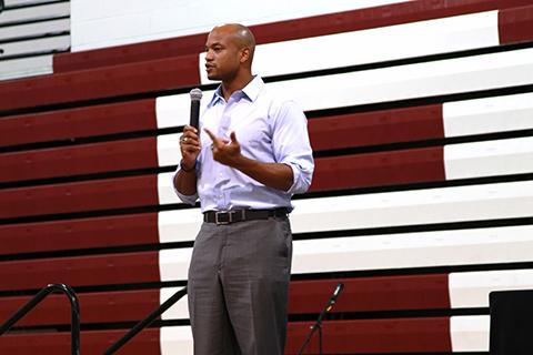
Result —
[[[258, 43], [288, 41], [315, 36], [358, 31], [531, 4], [531, 0], [423, 0], [358, 9], [338, 13], [252, 26]], [[207, 33], [61, 53], [53, 58], [54, 72], [117, 65], [138, 61], [198, 54], [203, 51]]]

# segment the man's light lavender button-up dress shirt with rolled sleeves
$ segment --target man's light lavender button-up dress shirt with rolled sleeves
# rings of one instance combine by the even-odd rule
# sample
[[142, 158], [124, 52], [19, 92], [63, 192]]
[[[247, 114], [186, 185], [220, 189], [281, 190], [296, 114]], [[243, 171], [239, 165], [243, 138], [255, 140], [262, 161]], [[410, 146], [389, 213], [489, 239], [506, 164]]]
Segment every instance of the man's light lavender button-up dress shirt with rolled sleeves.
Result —
[[[203, 128], [228, 141], [234, 131], [241, 153], [247, 158], [289, 165], [293, 172], [292, 186], [286, 192], [268, 187], [235, 169], [215, 162], [210, 149], [212, 141]], [[202, 212], [275, 207], [292, 210], [291, 196], [305, 192], [311, 184], [314, 163], [308, 120], [295, 102], [279, 99], [269, 92], [259, 75], [244, 89], [233, 92], [228, 102], [219, 87], [201, 113], [200, 130], [202, 150], [197, 159], [197, 194], [177, 193], [189, 204], [200, 199]]]

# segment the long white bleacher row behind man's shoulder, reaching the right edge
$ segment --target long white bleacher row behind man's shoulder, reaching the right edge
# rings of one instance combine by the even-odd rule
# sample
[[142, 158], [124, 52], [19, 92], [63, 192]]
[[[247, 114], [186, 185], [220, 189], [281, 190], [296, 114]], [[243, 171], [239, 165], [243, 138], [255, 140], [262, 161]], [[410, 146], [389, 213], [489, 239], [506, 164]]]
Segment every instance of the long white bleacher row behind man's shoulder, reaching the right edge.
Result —
[[[305, 110], [361, 105], [533, 83], [533, 49], [269, 83]], [[328, 94], [324, 94], [328, 92]], [[202, 103], [212, 91], [204, 92]], [[189, 93], [157, 99], [158, 126], [189, 120]]]

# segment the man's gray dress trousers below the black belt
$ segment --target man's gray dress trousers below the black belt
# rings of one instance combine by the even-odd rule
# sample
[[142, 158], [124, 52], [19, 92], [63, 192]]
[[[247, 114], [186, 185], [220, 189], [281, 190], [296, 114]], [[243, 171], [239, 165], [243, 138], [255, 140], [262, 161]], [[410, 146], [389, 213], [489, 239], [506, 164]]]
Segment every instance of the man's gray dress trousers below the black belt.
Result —
[[291, 258], [288, 217], [203, 223], [188, 282], [194, 355], [283, 355]]

